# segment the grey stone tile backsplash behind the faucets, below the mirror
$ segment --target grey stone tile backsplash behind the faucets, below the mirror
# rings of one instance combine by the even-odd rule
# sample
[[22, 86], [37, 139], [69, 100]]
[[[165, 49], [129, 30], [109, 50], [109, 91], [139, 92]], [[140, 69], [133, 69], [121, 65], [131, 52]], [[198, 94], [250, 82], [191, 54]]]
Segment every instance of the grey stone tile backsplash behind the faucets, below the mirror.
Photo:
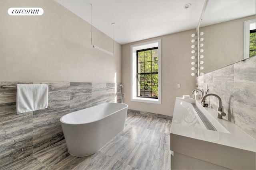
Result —
[[[197, 85], [219, 95], [227, 119], [256, 139], [256, 57], [199, 76]], [[217, 108], [215, 97], [207, 100]]]

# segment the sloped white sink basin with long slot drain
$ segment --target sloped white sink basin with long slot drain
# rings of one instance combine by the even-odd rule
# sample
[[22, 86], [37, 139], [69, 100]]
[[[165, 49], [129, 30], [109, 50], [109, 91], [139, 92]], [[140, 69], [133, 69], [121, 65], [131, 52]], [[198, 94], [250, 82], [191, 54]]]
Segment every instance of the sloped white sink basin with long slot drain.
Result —
[[[177, 99], [174, 111], [179, 114], [173, 117], [172, 123], [201, 129], [229, 133], [210, 113], [196, 104], [194, 99]], [[217, 113], [216, 113], [217, 114]]]

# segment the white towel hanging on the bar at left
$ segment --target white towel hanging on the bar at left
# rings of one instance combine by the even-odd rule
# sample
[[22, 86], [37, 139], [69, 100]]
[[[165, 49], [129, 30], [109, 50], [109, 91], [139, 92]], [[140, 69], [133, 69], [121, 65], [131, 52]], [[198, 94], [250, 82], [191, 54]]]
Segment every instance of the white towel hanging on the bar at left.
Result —
[[17, 84], [17, 114], [48, 107], [47, 84]]

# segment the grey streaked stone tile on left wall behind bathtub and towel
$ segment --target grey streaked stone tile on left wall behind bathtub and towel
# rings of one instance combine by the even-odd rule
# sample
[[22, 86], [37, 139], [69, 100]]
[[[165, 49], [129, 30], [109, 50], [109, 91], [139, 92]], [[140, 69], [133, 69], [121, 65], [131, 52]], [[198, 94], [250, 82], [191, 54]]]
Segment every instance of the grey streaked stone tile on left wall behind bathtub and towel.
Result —
[[62, 115], [119, 101], [120, 83], [0, 82], [0, 87], [16, 84], [48, 84], [48, 108], [16, 114], [16, 88], [0, 88], [0, 169], [62, 141]]

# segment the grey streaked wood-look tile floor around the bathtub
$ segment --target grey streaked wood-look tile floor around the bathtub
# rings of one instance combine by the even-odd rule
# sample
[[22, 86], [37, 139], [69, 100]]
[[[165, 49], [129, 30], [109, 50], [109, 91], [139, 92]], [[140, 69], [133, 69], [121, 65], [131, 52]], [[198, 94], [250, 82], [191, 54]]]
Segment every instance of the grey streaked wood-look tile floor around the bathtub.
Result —
[[60, 141], [6, 170], [170, 170], [171, 121], [128, 113], [126, 127], [95, 154], [75, 157]]

